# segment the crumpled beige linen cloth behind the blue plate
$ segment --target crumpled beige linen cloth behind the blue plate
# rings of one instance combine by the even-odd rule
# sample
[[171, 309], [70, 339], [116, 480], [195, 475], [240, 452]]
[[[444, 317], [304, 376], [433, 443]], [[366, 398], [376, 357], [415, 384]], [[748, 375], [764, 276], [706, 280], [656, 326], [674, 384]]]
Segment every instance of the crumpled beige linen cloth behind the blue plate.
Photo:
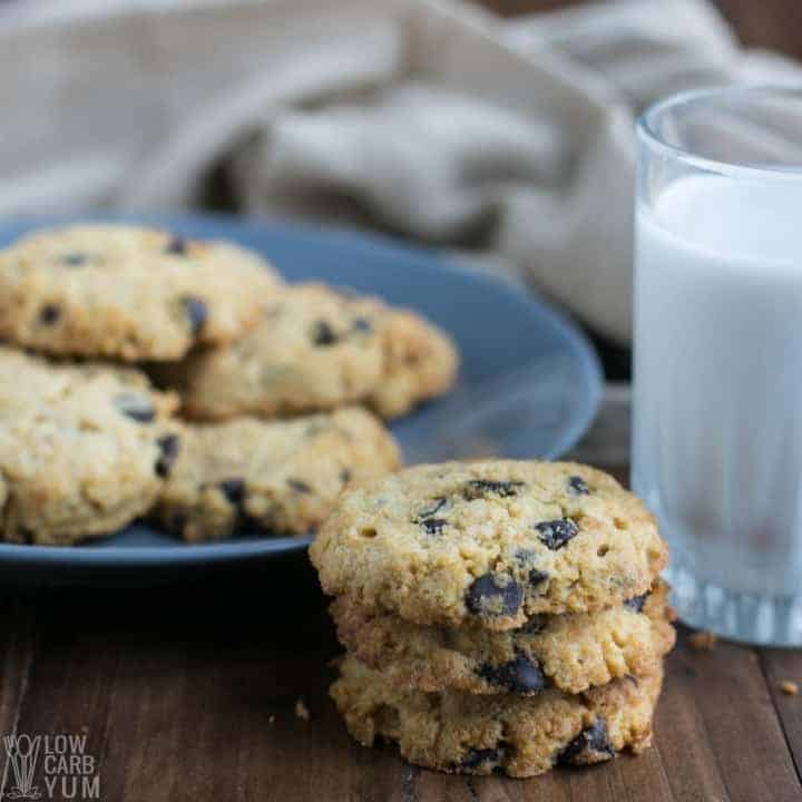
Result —
[[801, 75], [704, 0], [12, 1], [0, 215], [196, 207], [214, 172], [251, 214], [489, 255], [626, 342], [635, 115]]

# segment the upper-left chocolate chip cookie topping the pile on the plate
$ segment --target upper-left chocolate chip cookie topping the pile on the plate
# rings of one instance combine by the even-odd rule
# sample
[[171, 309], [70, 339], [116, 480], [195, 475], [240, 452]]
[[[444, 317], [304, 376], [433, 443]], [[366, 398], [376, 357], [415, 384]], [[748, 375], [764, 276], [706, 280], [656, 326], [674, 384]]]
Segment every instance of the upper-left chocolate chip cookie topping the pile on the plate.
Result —
[[255, 253], [163, 231], [42, 231], [0, 252], [0, 336], [52, 354], [179, 359], [242, 336], [280, 284]]

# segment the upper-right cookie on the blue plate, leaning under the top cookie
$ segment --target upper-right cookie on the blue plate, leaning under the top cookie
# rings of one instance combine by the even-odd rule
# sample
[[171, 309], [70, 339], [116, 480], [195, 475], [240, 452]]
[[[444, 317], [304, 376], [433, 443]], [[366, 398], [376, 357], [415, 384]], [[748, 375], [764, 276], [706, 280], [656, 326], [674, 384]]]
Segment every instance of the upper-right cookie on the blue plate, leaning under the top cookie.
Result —
[[164, 373], [187, 414], [225, 419], [327, 410], [362, 401], [384, 418], [444, 392], [457, 352], [419, 315], [321, 284], [286, 287], [261, 323], [224, 349]]

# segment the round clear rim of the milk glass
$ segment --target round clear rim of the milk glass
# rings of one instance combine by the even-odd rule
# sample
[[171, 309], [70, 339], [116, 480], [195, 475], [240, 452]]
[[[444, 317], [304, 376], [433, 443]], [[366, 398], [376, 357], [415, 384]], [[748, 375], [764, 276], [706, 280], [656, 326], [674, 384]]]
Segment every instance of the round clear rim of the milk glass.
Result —
[[[671, 156], [687, 165], [708, 173], [717, 173], [731, 177], [751, 177], [761, 178], [763, 180], [773, 182], [799, 182], [802, 179], [802, 162], [789, 163], [788, 165], [766, 165], [755, 162], [728, 162], [726, 159], [717, 159], [711, 156], [702, 156], [681, 145], [674, 145], [666, 141], [656, 128], [656, 120], [667, 111], [689, 106], [700, 101], [713, 101], [724, 98], [749, 98], [750, 96], [774, 96], [780, 98], [791, 98], [801, 104], [802, 116], [802, 85], [781, 86], [781, 85], [753, 85], [753, 86], [717, 86], [706, 87], [704, 89], [688, 89], [685, 91], [669, 95], [653, 102], [646, 107], [637, 118], [635, 128], [637, 136], [649, 147], [661, 151], [665, 156]], [[802, 143], [800, 143], [802, 145]]]

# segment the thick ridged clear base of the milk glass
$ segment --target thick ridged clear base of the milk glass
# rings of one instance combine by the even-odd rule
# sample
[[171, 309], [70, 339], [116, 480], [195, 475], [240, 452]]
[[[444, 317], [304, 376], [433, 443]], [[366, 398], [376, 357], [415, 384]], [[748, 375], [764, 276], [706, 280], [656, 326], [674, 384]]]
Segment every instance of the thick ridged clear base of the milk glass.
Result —
[[682, 564], [666, 571], [672, 604], [694, 629], [759, 646], [802, 647], [802, 594], [763, 596], [718, 587]]

